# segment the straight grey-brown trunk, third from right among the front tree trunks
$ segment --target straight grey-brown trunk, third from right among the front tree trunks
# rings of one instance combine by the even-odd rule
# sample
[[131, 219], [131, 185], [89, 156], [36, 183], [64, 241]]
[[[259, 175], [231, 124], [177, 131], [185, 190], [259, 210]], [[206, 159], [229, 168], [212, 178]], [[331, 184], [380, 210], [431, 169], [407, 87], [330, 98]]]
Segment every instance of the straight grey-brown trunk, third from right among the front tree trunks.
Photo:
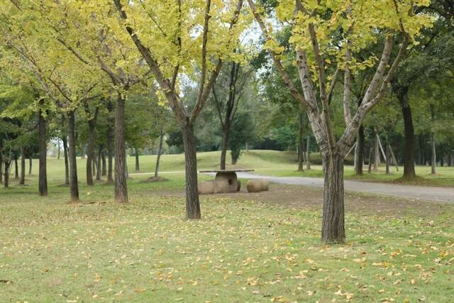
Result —
[[115, 110], [115, 196], [118, 203], [128, 202], [126, 184], [125, 98], [118, 94]]

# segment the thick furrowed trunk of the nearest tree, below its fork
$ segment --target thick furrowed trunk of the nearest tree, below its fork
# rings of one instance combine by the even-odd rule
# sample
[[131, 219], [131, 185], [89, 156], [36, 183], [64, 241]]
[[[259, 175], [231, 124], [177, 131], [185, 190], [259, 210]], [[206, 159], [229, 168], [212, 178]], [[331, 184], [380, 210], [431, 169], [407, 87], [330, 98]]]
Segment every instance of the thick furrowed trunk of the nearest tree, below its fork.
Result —
[[325, 243], [343, 243], [343, 155], [327, 153], [322, 155], [322, 160], [324, 188], [321, 238]]

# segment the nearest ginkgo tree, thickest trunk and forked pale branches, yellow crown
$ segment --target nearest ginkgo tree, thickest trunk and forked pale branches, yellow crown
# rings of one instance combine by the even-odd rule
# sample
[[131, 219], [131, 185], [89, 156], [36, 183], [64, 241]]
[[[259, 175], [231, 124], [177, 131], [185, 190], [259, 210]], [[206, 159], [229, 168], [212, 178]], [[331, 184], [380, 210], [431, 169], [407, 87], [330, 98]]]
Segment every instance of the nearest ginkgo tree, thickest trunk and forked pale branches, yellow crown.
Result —
[[[275, 16], [291, 26], [290, 43], [294, 49], [294, 64], [299, 72], [304, 94], [300, 94], [281, 62], [284, 47], [275, 38], [275, 30], [265, 9], [248, 0], [251, 11], [265, 37], [266, 48], [294, 99], [306, 109], [306, 114], [321, 150], [324, 194], [322, 241], [343, 243], [344, 187], [343, 163], [353, 145], [358, 128], [387, 91], [399, 62], [421, 28], [430, 26], [431, 18], [415, 14], [416, 6], [427, 0], [279, 0]], [[380, 59], [355, 56], [371, 43], [384, 40]], [[393, 46], [397, 52], [393, 55]], [[362, 54], [363, 55], [363, 54]], [[358, 70], [375, 69], [358, 107], [352, 104], [351, 78]], [[331, 75], [329, 75], [331, 72]], [[343, 72], [343, 114], [345, 129], [340, 138], [333, 133], [330, 116], [331, 98], [336, 78]]]

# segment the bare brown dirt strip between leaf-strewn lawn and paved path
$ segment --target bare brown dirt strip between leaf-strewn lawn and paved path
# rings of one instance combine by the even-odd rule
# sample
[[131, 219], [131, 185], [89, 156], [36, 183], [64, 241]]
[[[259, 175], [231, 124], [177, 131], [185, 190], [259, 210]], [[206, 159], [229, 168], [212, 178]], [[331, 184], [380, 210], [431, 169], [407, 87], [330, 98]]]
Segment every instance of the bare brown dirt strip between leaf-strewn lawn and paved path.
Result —
[[[254, 200], [299, 209], [322, 209], [323, 189], [299, 185], [271, 184], [268, 192], [248, 193], [241, 189], [236, 194], [220, 194], [235, 199]], [[204, 196], [201, 196], [203, 199]], [[438, 216], [453, 212], [454, 206], [443, 202], [430, 202], [375, 194], [345, 193], [345, 211], [355, 214], [381, 216]]]

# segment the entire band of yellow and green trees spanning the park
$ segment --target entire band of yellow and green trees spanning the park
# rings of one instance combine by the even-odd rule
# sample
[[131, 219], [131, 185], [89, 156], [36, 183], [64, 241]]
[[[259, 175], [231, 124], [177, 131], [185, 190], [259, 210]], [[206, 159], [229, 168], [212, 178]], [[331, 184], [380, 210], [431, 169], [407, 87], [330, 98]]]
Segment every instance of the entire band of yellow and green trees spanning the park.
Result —
[[[355, 144], [356, 170], [362, 173], [365, 133], [372, 129], [370, 138], [384, 136], [389, 159], [397, 113], [390, 104], [397, 100], [402, 109], [405, 177], [414, 175], [409, 100], [428, 104], [433, 155], [442, 137], [436, 133], [450, 131], [443, 128], [452, 118], [445, 93], [452, 60], [443, 57], [452, 45], [448, 2], [2, 0], [1, 83], [6, 92], [28, 96], [5, 95], [12, 98], [2, 123], [29, 124], [38, 133], [40, 194], [47, 194], [50, 124], [61, 120], [55, 129], [62, 141], [67, 138], [71, 199], [79, 199], [76, 154], [82, 143], [87, 183], [105, 154], [121, 203], [128, 202], [126, 144], [138, 155], [147, 145], [143, 138], [160, 137], [162, 146], [170, 132], [184, 148], [188, 219], [201, 217], [195, 132], [213, 133], [214, 117], [222, 138], [221, 169], [227, 148], [236, 162], [255, 138], [296, 143], [300, 170], [317, 149], [325, 172], [322, 238], [343, 242], [344, 158]], [[248, 31], [260, 31], [263, 40], [248, 40]], [[11, 139], [18, 133], [4, 133], [12, 155]]]

